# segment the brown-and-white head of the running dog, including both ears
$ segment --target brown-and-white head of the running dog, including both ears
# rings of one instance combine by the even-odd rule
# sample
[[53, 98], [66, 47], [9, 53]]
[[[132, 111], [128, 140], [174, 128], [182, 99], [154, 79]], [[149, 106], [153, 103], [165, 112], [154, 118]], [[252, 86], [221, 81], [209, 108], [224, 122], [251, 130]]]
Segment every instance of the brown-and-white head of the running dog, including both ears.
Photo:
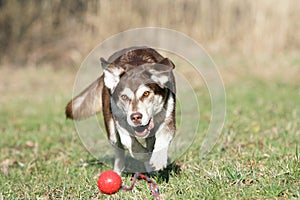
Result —
[[102, 60], [104, 85], [110, 89], [114, 114], [126, 118], [136, 137], [145, 138], [155, 127], [169, 91], [175, 93], [174, 64], [165, 58], [141, 66], [110, 64]]

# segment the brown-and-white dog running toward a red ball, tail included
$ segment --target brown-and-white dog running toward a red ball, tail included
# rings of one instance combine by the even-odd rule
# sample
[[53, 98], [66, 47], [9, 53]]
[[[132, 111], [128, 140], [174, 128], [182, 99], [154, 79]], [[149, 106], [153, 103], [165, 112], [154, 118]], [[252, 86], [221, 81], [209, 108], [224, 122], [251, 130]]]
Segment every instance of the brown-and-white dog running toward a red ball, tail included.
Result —
[[174, 63], [149, 47], [123, 49], [100, 61], [103, 74], [67, 104], [67, 118], [103, 111], [115, 172], [125, 169], [125, 149], [148, 172], [164, 169], [176, 131]]

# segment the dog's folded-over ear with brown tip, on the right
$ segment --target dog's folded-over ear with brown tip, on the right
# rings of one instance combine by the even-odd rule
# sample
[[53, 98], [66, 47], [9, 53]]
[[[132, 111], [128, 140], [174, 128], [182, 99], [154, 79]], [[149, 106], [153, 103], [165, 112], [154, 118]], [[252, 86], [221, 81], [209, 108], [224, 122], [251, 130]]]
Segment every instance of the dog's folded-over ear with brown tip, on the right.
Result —
[[173, 62], [168, 58], [164, 58], [149, 70], [149, 72], [151, 73], [151, 79], [159, 84], [162, 88], [168, 87], [169, 83], [174, 80], [172, 74], [172, 70], [174, 68], [175, 65], [173, 64]]

